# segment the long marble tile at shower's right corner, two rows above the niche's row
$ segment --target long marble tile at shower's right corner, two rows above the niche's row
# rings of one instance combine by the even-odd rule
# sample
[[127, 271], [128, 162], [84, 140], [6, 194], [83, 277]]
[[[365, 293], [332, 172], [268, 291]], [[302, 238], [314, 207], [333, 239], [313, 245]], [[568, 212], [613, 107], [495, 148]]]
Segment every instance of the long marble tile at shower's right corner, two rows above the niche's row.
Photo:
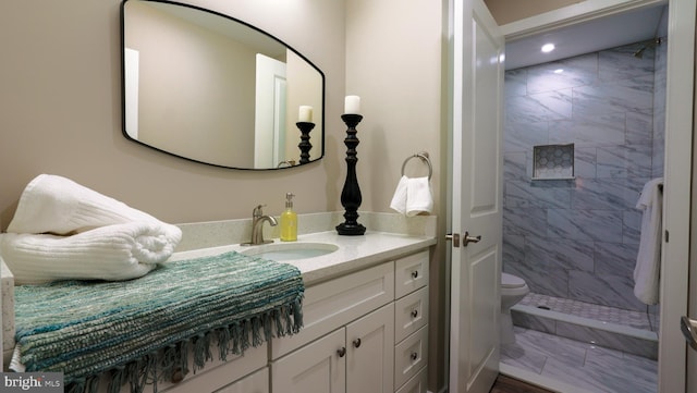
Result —
[[573, 112], [576, 114], [603, 114], [639, 111], [652, 108], [653, 76], [609, 81], [573, 90]]

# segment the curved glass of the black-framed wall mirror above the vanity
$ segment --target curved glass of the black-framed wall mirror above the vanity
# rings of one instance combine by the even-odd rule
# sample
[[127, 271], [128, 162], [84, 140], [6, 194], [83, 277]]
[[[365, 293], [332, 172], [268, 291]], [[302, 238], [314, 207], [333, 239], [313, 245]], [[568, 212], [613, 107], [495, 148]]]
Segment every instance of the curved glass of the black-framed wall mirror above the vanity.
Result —
[[[129, 139], [235, 169], [290, 168], [323, 156], [325, 75], [281, 40], [213, 11], [158, 0], [124, 0], [122, 34]], [[315, 124], [303, 157], [298, 121]]]

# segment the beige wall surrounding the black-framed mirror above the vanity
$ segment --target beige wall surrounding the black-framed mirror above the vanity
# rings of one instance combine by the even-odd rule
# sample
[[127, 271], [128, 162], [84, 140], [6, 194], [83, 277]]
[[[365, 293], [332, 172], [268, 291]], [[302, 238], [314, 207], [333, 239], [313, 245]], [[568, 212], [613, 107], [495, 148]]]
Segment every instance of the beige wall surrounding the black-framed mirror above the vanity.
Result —
[[[170, 222], [340, 210], [345, 176], [344, 4], [306, 0], [192, 0], [278, 37], [327, 76], [327, 158], [283, 171], [239, 171], [170, 157], [121, 133], [120, 1], [12, 1], [0, 5], [0, 228], [24, 186], [60, 174]], [[321, 32], [318, 34], [317, 32]], [[371, 208], [366, 198], [367, 208]]]

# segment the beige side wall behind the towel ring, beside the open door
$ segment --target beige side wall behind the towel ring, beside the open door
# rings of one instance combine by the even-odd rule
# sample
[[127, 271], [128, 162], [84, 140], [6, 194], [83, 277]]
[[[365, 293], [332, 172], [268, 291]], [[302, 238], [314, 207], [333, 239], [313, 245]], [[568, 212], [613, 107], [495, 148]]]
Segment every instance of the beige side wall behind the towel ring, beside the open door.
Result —
[[[358, 176], [371, 210], [389, 204], [409, 156], [427, 151], [433, 175], [435, 213], [444, 238], [448, 147], [444, 146], [448, 90], [447, 1], [348, 0], [346, 4], [346, 94], [360, 96]], [[398, 11], [399, 10], [399, 11]], [[418, 159], [405, 169], [425, 175]], [[365, 199], [364, 199], [365, 200]], [[429, 389], [444, 386], [444, 331], [448, 296], [443, 242], [431, 258]]]

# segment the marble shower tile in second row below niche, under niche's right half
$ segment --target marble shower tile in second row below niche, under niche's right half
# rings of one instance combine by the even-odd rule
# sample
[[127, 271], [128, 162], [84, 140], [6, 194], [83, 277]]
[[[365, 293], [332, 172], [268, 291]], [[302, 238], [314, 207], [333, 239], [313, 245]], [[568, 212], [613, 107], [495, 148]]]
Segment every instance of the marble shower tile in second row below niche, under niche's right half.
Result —
[[622, 212], [548, 209], [547, 236], [557, 240], [622, 242]]

